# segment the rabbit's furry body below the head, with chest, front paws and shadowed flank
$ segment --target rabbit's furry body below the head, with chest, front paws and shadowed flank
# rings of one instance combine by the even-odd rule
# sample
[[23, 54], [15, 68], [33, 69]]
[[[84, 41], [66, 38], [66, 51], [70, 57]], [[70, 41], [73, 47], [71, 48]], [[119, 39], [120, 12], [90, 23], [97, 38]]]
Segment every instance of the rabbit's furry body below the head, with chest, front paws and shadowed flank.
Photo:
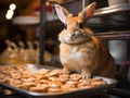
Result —
[[83, 77], [114, 77], [115, 61], [96, 37], [80, 45], [61, 44], [60, 58], [64, 74], [78, 72]]

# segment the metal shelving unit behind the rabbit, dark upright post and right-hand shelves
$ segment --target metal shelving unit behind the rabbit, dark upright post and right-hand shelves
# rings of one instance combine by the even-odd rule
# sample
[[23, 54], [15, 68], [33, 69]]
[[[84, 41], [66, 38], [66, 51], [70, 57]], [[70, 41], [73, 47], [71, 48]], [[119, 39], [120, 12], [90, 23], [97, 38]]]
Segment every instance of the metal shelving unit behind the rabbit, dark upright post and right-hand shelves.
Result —
[[[46, 7], [44, 7], [44, 2], [47, 0], [41, 0], [41, 12], [40, 12], [40, 64], [43, 64], [43, 50], [44, 50], [44, 36], [46, 36], [46, 29], [47, 26], [47, 22], [46, 22]], [[53, 0], [49, 0], [49, 1], [53, 1]], [[75, 0], [68, 0], [64, 4], [67, 3], [72, 3], [75, 2]], [[55, 3], [55, 2], [52, 2]], [[118, 14], [123, 14], [126, 12], [130, 11], [130, 3], [123, 3], [123, 4], [117, 4], [117, 5], [112, 5], [112, 7], [106, 7], [106, 8], [102, 8], [102, 9], [96, 9], [94, 14], [93, 14], [93, 19], [94, 17], [104, 17], [104, 16], [112, 16], [112, 15], [118, 15]], [[130, 28], [130, 27], [129, 27]], [[119, 32], [108, 32], [108, 33], [98, 33], [95, 36], [102, 38], [102, 39], [130, 39], [130, 30], [119, 30]]]

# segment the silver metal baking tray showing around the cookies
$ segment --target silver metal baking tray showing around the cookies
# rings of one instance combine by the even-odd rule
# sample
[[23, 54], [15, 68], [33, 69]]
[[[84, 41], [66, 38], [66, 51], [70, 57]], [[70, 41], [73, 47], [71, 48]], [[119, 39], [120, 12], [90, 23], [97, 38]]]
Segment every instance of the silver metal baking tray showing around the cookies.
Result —
[[[50, 65], [35, 65], [35, 64], [27, 64], [27, 68], [30, 69], [31, 71], [37, 71], [39, 69], [49, 69], [49, 70], [54, 70], [57, 68], [50, 66]], [[99, 76], [101, 77], [101, 76]], [[93, 87], [93, 88], [83, 88], [83, 89], [77, 89], [74, 91], [67, 91], [67, 93], [56, 93], [56, 94], [47, 94], [47, 93], [34, 93], [34, 91], [28, 91], [22, 88], [16, 88], [11, 85], [8, 85], [5, 83], [0, 83], [0, 86], [2, 88], [10, 89], [13, 93], [17, 93], [20, 95], [24, 95], [29, 98], [87, 98], [88, 96], [91, 95], [96, 95], [96, 94], [103, 94], [107, 91], [110, 88], [114, 88], [117, 84], [117, 81], [114, 78], [107, 78], [107, 77], [101, 77], [104, 81], [107, 82], [107, 85], [104, 86], [99, 86], [99, 87]]]

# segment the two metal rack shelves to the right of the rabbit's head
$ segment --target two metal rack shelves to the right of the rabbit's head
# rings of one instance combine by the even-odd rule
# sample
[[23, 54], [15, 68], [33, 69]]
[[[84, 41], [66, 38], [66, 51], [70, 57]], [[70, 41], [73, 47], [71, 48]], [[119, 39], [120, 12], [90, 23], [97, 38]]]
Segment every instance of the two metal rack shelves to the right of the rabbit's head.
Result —
[[[130, 3], [112, 5], [103, 9], [95, 10], [93, 17], [103, 17], [110, 15], [118, 15], [130, 11]], [[115, 40], [129, 40], [130, 39], [130, 30], [119, 30], [119, 32], [107, 32], [107, 33], [98, 33], [95, 36], [102, 39], [115, 39]]]

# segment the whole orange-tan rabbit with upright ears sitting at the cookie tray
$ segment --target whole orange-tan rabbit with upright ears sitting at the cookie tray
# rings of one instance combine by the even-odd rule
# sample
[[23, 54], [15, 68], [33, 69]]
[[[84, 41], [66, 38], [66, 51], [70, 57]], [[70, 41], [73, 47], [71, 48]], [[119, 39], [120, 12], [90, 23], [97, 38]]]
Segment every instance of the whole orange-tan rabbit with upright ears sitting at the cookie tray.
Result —
[[65, 8], [55, 4], [57, 17], [65, 28], [58, 34], [60, 60], [62, 73], [78, 72], [82, 78], [93, 75], [114, 77], [115, 60], [93, 32], [86, 27], [93, 15], [96, 2], [84, 8], [77, 16], [73, 16]]

